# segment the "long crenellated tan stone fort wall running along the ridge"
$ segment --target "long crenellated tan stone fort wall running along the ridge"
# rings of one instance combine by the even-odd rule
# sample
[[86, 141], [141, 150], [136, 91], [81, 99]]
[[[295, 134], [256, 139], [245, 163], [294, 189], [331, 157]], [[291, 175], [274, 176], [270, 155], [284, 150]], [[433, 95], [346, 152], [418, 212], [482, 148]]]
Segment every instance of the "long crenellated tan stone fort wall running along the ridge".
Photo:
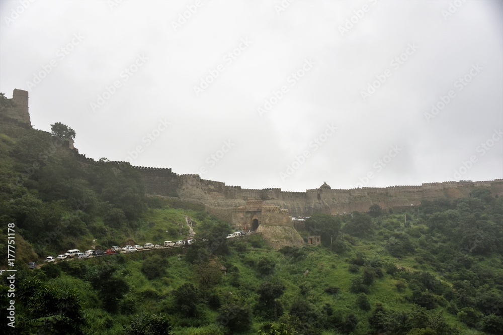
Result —
[[[82, 162], [97, 163], [85, 155], [76, 155]], [[281, 210], [286, 210], [287, 216], [308, 216], [314, 212], [338, 215], [355, 210], [368, 211], [373, 204], [382, 208], [404, 208], [419, 205], [425, 199], [453, 200], [469, 197], [475, 187], [487, 187], [492, 195], [503, 196], [503, 179], [354, 189], [314, 188], [305, 192], [284, 192], [280, 188], [244, 189], [240, 186], [227, 186], [224, 182], [201, 179], [197, 174], [177, 175], [171, 169], [136, 167], [127, 162], [110, 163], [115, 164], [118, 169], [131, 168], [138, 171], [145, 182], [147, 193], [177, 196], [204, 204], [208, 211], [233, 222], [236, 227], [243, 222], [249, 222], [249, 215], [237, 214], [225, 208], [232, 209], [254, 202], [267, 205], [267, 210], [262, 209], [261, 221], [265, 224], [274, 221], [275, 225], [281, 226], [286, 224], [285, 213], [281, 213]]]

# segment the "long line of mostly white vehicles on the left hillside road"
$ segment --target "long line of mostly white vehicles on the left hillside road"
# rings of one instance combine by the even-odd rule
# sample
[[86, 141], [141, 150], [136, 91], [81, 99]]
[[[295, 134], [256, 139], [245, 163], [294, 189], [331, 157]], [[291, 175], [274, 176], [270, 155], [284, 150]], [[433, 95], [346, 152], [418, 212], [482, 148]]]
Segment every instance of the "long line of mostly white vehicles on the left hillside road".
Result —
[[120, 253], [120, 252], [129, 253], [129, 252], [135, 252], [138, 250], [180, 247], [180, 246], [185, 246], [185, 245], [191, 245], [195, 242], [196, 242], [196, 240], [190, 239], [187, 241], [179, 240], [176, 242], [164, 241], [164, 243], [162, 245], [159, 245], [159, 244], [154, 245], [153, 243], [145, 243], [143, 246], [136, 244], [134, 246], [127, 245], [122, 248], [120, 248], [118, 246], [113, 246], [112, 248], [110, 248], [106, 251], [89, 249], [83, 253], [81, 253], [79, 249], [70, 249], [70, 250], [66, 251], [64, 254], [58, 255], [57, 257], [48, 256], [45, 259], [45, 262], [52, 263], [52, 262], [56, 262], [56, 261], [62, 261], [62, 260], [68, 259], [68, 258], [85, 259], [85, 258], [90, 258], [90, 257], [111, 255], [111, 254], [116, 254], [116, 253]]

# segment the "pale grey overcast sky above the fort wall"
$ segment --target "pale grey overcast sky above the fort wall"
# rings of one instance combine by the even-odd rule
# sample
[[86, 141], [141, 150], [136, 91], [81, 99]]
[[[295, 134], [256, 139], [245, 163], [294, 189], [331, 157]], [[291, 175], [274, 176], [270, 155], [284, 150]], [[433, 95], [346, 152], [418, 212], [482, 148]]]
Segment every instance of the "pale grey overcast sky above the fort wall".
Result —
[[[291, 1], [291, 0], [290, 0]], [[503, 178], [503, 2], [0, 2], [0, 92], [98, 160], [289, 191]]]

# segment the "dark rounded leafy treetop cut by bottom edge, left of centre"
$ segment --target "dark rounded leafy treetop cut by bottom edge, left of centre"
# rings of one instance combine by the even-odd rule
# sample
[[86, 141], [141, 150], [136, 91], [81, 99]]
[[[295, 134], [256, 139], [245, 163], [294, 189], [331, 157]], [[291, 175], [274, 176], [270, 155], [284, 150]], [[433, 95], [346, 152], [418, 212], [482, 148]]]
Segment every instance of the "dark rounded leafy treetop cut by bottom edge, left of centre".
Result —
[[173, 323], [164, 314], [136, 315], [128, 327], [124, 327], [125, 335], [172, 335]]

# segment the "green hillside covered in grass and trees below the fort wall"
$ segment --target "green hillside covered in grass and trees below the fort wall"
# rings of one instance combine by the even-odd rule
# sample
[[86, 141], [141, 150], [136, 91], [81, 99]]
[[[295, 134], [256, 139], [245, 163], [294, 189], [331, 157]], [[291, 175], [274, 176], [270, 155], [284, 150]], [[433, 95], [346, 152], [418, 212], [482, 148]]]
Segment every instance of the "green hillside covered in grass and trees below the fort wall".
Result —
[[[132, 169], [82, 164], [46, 132], [0, 130], [2, 236], [11, 224], [16, 241], [9, 333], [503, 333], [503, 199], [487, 189], [314, 214], [299, 233], [322, 245], [276, 251], [258, 234], [226, 239], [229, 223], [200, 205], [146, 195]], [[73, 248], [186, 239], [186, 217], [194, 245], [43, 265]], [[0, 259], [8, 268], [7, 243]]]

